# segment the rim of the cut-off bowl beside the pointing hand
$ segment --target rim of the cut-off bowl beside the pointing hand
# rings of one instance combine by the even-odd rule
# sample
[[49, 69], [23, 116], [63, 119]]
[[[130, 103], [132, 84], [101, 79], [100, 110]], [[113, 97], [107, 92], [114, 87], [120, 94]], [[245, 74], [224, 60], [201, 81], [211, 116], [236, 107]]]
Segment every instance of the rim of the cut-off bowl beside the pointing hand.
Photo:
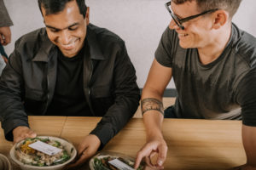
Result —
[[[93, 156], [90, 161], [89, 161], [89, 166], [90, 166], [90, 170], [99, 170], [97, 168], [95, 168], [95, 159], [102, 159], [102, 158], [106, 158], [106, 157], [111, 157], [111, 158], [121, 158], [125, 161], [131, 161], [132, 163], [135, 162], [135, 159], [131, 156], [125, 156], [124, 154], [120, 154], [120, 153], [116, 153], [116, 152], [108, 152], [108, 151], [102, 151], [102, 152], [99, 152], [96, 156]], [[130, 166], [130, 167], [133, 167]], [[141, 163], [141, 168], [140, 169], [144, 169], [145, 168], [145, 165], [144, 165], [144, 162]]]

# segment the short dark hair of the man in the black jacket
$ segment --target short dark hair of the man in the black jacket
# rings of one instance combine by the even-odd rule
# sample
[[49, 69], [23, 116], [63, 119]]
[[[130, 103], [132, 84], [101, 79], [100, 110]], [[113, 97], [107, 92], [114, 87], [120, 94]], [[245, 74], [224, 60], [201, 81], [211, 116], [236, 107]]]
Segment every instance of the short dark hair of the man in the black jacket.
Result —
[[[85, 5], [84, 0], [38, 0], [38, 6], [42, 13], [42, 7], [45, 9], [47, 14], [56, 14], [61, 12], [66, 4], [71, 1], [76, 1], [79, 6], [80, 14], [83, 14], [85, 18], [87, 7]], [[43, 14], [43, 13], [42, 13]]]

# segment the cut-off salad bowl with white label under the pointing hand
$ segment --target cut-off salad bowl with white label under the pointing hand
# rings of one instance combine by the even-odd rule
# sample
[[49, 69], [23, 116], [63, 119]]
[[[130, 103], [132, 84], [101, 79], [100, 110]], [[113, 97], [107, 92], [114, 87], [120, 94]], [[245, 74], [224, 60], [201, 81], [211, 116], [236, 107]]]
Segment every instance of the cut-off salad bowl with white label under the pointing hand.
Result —
[[[135, 159], [131, 156], [114, 152], [100, 152], [90, 159], [89, 166], [90, 170], [134, 170], [134, 163]], [[137, 170], [143, 170], [144, 167], [144, 163], [142, 163]]]

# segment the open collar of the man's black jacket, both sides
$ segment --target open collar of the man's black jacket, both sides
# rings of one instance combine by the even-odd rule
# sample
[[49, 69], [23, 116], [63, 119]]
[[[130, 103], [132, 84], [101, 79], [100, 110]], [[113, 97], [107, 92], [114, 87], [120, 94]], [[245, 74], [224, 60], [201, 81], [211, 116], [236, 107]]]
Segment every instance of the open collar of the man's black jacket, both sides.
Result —
[[[89, 50], [90, 50], [90, 59], [99, 59], [104, 60], [106, 59], [105, 56], [102, 54], [102, 49], [99, 47], [99, 42], [96, 39], [96, 32], [92, 30], [92, 25], [87, 26], [87, 34], [86, 39], [84, 42], [88, 42]], [[50, 50], [53, 48], [57, 48], [56, 45], [50, 42], [47, 32], [45, 28], [43, 28], [40, 32], [42, 34], [42, 44], [38, 50], [36, 56], [32, 59], [33, 61], [44, 61], [48, 62]]]

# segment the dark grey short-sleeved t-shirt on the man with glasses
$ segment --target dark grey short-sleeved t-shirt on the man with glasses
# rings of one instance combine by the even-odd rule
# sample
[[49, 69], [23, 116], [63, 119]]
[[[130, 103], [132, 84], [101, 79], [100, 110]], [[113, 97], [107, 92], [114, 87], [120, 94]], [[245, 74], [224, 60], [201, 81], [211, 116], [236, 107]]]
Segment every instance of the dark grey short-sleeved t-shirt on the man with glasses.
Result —
[[181, 48], [177, 32], [164, 31], [155, 59], [172, 67], [181, 118], [241, 119], [256, 126], [256, 38], [232, 24], [218, 59], [202, 65], [197, 48]]

